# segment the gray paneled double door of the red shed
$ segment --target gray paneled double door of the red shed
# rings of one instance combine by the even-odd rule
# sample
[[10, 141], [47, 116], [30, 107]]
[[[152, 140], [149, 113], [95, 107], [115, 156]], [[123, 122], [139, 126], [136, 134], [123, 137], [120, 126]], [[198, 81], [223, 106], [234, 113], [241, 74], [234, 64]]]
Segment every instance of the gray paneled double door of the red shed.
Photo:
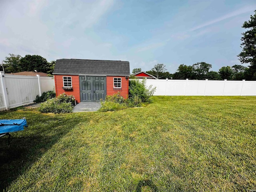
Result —
[[79, 76], [81, 102], [99, 102], [106, 97], [106, 76]]

